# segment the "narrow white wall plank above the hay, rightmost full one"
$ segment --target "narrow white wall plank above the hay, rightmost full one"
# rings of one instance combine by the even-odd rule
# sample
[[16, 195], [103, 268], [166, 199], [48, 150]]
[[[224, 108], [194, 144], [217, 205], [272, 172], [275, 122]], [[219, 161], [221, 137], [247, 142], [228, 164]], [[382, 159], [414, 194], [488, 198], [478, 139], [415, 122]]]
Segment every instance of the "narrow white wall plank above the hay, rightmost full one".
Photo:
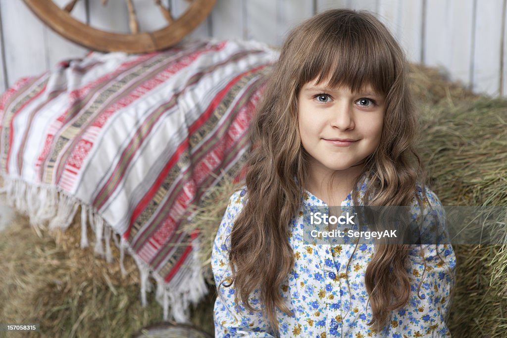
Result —
[[502, 9], [503, 0], [485, 1], [476, 6], [473, 89], [493, 96], [500, 94]]

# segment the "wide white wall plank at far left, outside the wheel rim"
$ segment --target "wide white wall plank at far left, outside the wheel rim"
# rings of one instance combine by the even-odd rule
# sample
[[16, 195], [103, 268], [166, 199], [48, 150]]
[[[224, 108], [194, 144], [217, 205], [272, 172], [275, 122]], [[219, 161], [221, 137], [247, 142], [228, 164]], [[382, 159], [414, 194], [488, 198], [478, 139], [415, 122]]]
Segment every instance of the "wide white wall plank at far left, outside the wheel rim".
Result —
[[2, 0], [8, 86], [48, 69], [47, 28], [21, 1]]

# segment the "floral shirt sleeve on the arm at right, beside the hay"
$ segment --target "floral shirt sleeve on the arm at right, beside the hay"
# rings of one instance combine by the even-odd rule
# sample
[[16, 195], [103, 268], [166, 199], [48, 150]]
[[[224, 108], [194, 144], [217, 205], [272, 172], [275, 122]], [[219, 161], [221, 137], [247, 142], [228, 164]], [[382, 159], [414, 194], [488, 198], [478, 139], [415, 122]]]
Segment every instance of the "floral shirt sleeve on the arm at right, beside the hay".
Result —
[[394, 311], [391, 327], [402, 327], [412, 336], [450, 336], [446, 320], [455, 283], [456, 256], [446, 238], [442, 203], [429, 189], [426, 189], [426, 197], [423, 212], [418, 212], [417, 208], [414, 216], [422, 217], [423, 234], [440, 230], [439, 236], [432, 237], [438, 238], [438, 243], [413, 245], [409, 253], [411, 299], [406, 308]]

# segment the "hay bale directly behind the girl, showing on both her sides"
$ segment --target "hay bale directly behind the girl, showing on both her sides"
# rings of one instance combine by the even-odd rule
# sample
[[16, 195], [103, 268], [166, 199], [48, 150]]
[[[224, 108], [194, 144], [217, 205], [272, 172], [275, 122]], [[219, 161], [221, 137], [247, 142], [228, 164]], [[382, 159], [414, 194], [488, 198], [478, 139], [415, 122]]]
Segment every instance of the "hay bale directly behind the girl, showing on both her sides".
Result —
[[[507, 101], [475, 95], [434, 68], [412, 65], [411, 78], [422, 127], [419, 151], [442, 203], [507, 206]], [[203, 229], [207, 275], [211, 245], [233, 191], [230, 186], [213, 192], [193, 223]], [[454, 249], [456, 289], [448, 323], [452, 334], [503, 337], [507, 246], [454, 245]]]

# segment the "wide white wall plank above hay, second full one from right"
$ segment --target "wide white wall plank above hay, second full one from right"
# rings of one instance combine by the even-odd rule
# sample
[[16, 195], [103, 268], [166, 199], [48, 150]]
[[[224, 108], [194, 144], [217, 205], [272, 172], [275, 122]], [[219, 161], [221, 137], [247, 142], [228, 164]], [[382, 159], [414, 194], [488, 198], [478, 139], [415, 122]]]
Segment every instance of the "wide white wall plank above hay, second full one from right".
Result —
[[423, 59], [443, 67], [451, 80], [470, 83], [473, 0], [428, 0]]

